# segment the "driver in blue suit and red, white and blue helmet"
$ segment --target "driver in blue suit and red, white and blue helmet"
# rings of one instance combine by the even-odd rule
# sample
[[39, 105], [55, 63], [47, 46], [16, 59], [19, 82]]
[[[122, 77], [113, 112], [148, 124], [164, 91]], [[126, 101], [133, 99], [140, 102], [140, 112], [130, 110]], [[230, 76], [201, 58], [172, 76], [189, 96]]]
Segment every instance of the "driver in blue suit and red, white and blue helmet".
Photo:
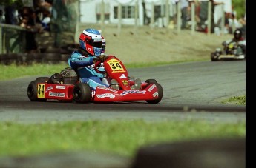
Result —
[[[108, 87], [108, 84], [102, 82], [103, 74], [94, 70], [94, 64], [97, 61], [105, 61], [108, 56], [105, 54], [105, 38], [99, 30], [85, 29], [79, 37], [79, 48], [73, 51], [68, 64], [76, 71], [80, 81], [89, 84], [91, 89], [96, 90], [97, 86]], [[104, 67], [99, 68], [104, 71]]]

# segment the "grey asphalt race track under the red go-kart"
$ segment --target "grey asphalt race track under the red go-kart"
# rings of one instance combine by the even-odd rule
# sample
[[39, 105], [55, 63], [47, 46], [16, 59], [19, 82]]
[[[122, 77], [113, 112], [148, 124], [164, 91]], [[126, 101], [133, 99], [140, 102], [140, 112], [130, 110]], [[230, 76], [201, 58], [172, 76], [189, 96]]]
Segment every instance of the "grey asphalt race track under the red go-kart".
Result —
[[[145, 81], [156, 79], [163, 87], [159, 104], [119, 102], [76, 104], [59, 101], [32, 102], [27, 86], [39, 76], [0, 81], [0, 121], [39, 123], [88, 119], [137, 119], [148, 121], [197, 118], [207, 121], [245, 121], [244, 105], [222, 104], [246, 94], [246, 61], [200, 61], [160, 67], [128, 69]], [[40, 75], [40, 76], [50, 76]]]

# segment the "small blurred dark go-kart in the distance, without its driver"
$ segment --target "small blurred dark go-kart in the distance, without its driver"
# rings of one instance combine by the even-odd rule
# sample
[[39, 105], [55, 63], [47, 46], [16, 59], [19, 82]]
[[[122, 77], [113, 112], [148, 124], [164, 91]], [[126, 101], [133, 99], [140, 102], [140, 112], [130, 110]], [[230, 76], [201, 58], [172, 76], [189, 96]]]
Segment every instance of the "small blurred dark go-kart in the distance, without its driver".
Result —
[[211, 61], [243, 60], [246, 58], [246, 53], [237, 42], [232, 41], [229, 44], [223, 43], [223, 46], [223, 50], [217, 48], [211, 53]]

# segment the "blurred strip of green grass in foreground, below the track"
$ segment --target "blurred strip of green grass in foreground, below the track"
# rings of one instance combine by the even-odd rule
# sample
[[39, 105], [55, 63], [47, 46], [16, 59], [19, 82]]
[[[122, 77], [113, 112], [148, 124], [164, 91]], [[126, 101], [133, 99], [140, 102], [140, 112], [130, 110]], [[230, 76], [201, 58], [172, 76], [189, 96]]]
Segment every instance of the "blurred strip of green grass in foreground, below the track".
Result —
[[[214, 118], [213, 118], [214, 119]], [[11, 133], [10, 133], [11, 132]], [[245, 121], [70, 121], [0, 123], [0, 156], [91, 150], [133, 156], [143, 145], [203, 138], [244, 138]]]

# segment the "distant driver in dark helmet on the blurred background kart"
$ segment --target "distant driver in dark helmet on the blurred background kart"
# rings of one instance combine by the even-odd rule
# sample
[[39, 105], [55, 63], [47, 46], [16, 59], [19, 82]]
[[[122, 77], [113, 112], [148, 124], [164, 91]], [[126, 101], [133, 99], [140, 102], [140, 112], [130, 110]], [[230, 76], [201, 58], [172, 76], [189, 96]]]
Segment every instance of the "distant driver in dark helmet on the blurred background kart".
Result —
[[234, 30], [233, 34], [234, 34], [234, 38], [223, 42], [224, 50], [226, 49], [227, 46], [229, 46], [229, 44], [235, 42], [242, 49], [240, 54], [245, 54], [246, 53], [246, 39], [243, 38], [242, 30], [240, 30], [240, 29]]

